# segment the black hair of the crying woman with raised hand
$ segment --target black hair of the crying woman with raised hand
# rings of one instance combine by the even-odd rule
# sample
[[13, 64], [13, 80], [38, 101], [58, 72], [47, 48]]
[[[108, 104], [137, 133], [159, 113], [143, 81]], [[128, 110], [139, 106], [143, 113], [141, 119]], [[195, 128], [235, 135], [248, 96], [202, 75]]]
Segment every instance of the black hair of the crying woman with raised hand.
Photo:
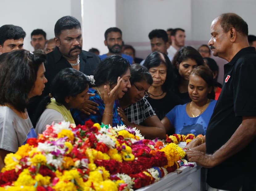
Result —
[[101, 60], [94, 72], [95, 86], [109, 83], [109, 86], [117, 83], [117, 78], [125, 74], [130, 68], [129, 61], [118, 55], [112, 55]]

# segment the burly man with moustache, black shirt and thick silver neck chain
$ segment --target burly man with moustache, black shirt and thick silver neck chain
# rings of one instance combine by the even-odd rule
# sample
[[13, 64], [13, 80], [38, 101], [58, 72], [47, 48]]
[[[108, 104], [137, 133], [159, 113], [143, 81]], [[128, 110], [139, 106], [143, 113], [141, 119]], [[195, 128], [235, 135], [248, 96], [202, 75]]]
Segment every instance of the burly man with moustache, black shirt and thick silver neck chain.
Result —
[[[82, 50], [81, 24], [76, 18], [71, 16], [60, 18], [55, 24], [54, 33], [56, 47], [52, 52], [47, 54], [45, 77], [48, 82], [45, 84], [42, 96], [51, 93], [50, 87], [52, 80], [60, 70], [64, 68], [74, 68], [89, 76], [93, 75], [94, 70], [100, 62], [97, 55]], [[35, 100], [31, 100], [29, 107], [27, 107], [30, 117], [33, 117], [40, 98], [34, 99]], [[90, 100], [86, 101], [85, 110], [87, 112], [84, 112], [86, 114], [90, 114], [88, 111], [96, 113], [93, 110], [97, 110], [97, 107], [94, 106], [97, 106], [97, 104]], [[36, 123], [36, 121], [32, 122], [33, 124]]]

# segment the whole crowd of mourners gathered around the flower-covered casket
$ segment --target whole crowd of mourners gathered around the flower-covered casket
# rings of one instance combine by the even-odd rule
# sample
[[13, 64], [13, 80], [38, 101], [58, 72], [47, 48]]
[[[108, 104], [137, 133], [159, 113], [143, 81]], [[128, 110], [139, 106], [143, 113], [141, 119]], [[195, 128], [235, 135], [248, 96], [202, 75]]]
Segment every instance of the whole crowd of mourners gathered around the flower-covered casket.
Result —
[[[239, 20], [239, 23], [231, 24], [228, 30], [221, 28], [222, 33], [229, 34], [221, 40], [230, 43], [230, 46], [222, 50], [216, 44], [217, 36], [221, 33], [217, 29], [223, 27], [219, 23], [225, 22], [228, 19], [226, 17], [231, 16]], [[209, 122], [213, 121], [215, 126], [220, 125], [213, 116], [221, 115], [219, 111], [222, 110], [218, 110], [218, 107], [224, 108], [222, 97], [228, 91], [233, 91], [240, 98], [248, 89], [244, 89], [240, 78], [234, 79], [238, 75], [236, 72], [224, 76], [224, 84], [235, 80], [232, 82], [235, 87], [222, 87], [223, 84], [217, 82], [219, 67], [211, 58], [211, 52], [213, 51], [214, 56], [232, 63], [232, 59], [238, 57], [234, 53], [241, 49], [245, 48], [247, 53], [255, 54], [255, 49], [247, 46], [255, 46], [256, 42], [254, 35], [248, 36], [247, 24], [247, 33], [240, 30], [245, 27], [245, 21], [238, 15], [223, 14], [214, 21], [209, 44], [201, 45], [198, 49], [185, 45], [184, 29], [152, 30], [148, 34], [152, 53], [145, 60], [135, 57], [135, 49], [124, 43], [122, 31], [117, 27], [105, 31], [104, 43], [109, 49], [108, 53], [100, 54], [96, 48], [82, 50], [81, 24], [71, 16], [62, 17], [56, 22], [53, 39], [47, 40], [42, 29], [35, 29], [31, 33], [31, 45], [35, 49], [33, 52], [23, 49], [26, 33], [21, 27], [1, 26], [0, 169], [4, 166], [6, 154], [16, 152], [19, 146], [26, 143], [27, 138], [37, 137], [45, 130], [46, 125], [61, 121], [83, 125], [89, 119], [94, 123], [102, 122], [113, 127], [123, 124], [136, 127], [149, 139], [165, 139], [166, 135], [174, 133], [202, 134], [203, 138], [194, 139], [187, 149], [213, 156], [240, 127], [235, 122], [230, 122], [236, 128], [225, 133], [220, 144], [213, 141], [213, 138], [208, 139]], [[216, 27], [219, 28], [215, 29]], [[247, 44], [249, 41], [248, 45], [240, 43], [245, 38]], [[235, 41], [240, 46], [234, 46], [240, 49], [232, 47]], [[228, 49], [233, 51], [233, 54], [229, 54], [230, 57], [226, 56]], [[250, 60], [256, 56], [248, 57]], [[228, 65], [232, 65], [229, 63]], [[246, 74], [249, 76], [256, 72], [255, 66], [248, 70], [244, 70], [241, 65], [237, 67], [239, 72], [250, 71], [251, 73]], [[238, 99], [235, 95], [229, 96], [238, 104], [238, 100], [242, 98]], [[250, 97], [253, 95], [255, 94]], [[228, 95], [225, 96], [227, 99]], [[219, 97], [221, 100], [217, 101]], [[229, 104], [228, 101], [225, 103]], [[245, 108], [249, 106], [241, 102], [237, 107], [228, 105], [225, 112], [232, 107], [234, 118], [241, 117], [237, 123], [243, 124], [244, 117], [254, 116], [256, 113], [255, 105], [251, 106], [252, 104], [248, 112]], [[230, 116], [227, 114], [225, 117], [228, 119]], [[213, 131], [213, 125], [209, 129]], [[250, 140], [254, 139], [253, 137]], [[212, 152], [206, 152], [208, 140], [218, 145], [211, 147]], [[202, 166], [213, 168], [216, 165], [200, 163], [200, 157], [195, 157], [192, 150], [188, 150], [187, 155], [189, 161], [198, 162]], [[215, 174], [214, 170], [210, 171], [209, 176], [213, 176], [212, 174]], [[244, 174], [247, 177], [248, 173]], [[229, 182], [220, 183], [219, 186], [209, 179], [208, 183], [214, 188], [229, 190]], [[245, 186], [238, 184], [236, 188], [242, 190]]]

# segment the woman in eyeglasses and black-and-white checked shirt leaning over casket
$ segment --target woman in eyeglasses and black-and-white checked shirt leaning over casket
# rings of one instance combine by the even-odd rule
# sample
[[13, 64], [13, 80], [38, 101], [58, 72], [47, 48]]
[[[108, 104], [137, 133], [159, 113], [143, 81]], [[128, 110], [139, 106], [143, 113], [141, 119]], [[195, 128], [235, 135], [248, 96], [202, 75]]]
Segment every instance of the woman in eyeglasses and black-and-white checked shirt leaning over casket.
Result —
[[131, 88], [119, 99], [120, 115], [126, 126], [136, 127], [145, 138], [166, 138], [165, 128], [151, 105], [148, 103], [148, 89], [153, 83], [151, 74], [147, 68], [139, 64], [131, 66]]

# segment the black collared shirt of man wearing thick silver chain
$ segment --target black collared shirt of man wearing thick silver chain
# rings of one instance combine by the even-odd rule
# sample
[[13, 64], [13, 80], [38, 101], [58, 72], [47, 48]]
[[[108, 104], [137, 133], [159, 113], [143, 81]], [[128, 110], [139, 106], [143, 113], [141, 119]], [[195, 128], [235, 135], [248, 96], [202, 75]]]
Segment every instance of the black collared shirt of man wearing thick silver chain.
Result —
[[[100, 58], [91, 52], [82, 50], [79, 54], [80, 57], [80, 68], [79, 71], [90, 76], [93, 75], [97, 65], [100, 62]], [[59, 48], [56, 47], [52, 52], [47, 54], [47, 63], [45, 64], [45, 77], [48, 82], [45, 84], [43, 91], [44, 95], [50, 93], [50, 85], [52, 80], [60, 70], [64, 68], [72, 68], [68, 60], [66, 60], [59, 51]]]

